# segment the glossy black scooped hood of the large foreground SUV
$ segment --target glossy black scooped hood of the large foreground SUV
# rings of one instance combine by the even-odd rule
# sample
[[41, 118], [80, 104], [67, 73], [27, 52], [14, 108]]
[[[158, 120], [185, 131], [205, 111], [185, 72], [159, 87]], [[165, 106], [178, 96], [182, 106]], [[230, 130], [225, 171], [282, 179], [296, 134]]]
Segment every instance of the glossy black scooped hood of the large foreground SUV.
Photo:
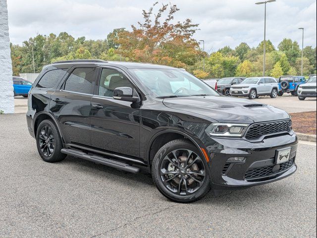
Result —
[[218, 122], [254, 123], [289, 119], [285, 111], [247, 99], [221, 96], [167, 98], [166, 107], [209, 117]]

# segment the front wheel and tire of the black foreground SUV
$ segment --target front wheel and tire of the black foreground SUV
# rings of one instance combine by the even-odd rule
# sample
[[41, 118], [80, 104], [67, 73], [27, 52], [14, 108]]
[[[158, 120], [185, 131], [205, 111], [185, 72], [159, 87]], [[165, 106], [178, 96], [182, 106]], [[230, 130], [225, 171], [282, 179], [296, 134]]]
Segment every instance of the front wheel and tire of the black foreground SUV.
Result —
[[177, 139], [163, 145], [154, 157], [152, 177], [159, 192], [168, 199], [189, 203], [211, 189], [205, 157], [192, 143]]

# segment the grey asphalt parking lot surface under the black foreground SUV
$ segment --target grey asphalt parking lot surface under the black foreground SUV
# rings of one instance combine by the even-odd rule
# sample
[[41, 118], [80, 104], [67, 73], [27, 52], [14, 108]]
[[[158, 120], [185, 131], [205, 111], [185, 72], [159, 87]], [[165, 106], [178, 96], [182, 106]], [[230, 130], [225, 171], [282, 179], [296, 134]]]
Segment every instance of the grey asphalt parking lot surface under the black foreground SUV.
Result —
[[45, 163], [24, 114], [0, 115], [0, 162], [0, 237], [316, 237], [315, 144], [299, 145], [289, 178], [192, 204], [149, 175]]

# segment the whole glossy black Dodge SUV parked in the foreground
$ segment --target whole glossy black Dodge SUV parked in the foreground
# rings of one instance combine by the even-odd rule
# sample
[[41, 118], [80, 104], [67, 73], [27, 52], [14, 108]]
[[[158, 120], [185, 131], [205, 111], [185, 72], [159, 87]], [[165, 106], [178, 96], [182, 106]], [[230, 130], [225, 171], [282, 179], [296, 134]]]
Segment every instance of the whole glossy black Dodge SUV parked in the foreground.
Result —
[[277, 108], [225, 97], [185, 70], [103, 60], [43, 68], [26, 114], [44, 161], [71, 155], [152, 173], [159, 191], [193, 202], [296, 171], [297, 137]]

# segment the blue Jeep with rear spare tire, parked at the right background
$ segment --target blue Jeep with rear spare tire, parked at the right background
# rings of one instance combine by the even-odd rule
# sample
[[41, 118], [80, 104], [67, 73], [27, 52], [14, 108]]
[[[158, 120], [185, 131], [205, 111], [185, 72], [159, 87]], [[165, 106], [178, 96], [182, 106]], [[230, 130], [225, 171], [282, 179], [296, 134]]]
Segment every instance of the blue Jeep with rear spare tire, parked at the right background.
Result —
[[299, 85], [306, 83], [304, 76], [281, 76], [278, 80], [278, 96], [282, 96], [284, 93], [291, 93], [293, 96], [297, 96], [297, 90]]

